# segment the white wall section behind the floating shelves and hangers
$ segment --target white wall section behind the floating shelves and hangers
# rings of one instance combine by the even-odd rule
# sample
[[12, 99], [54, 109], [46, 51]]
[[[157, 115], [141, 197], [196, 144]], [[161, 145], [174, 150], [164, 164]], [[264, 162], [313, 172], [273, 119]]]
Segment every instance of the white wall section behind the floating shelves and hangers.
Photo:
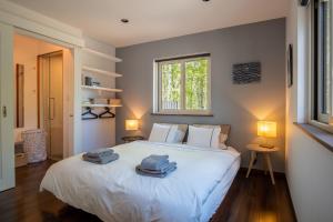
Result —
[[[90, 38], [84, 38], [85, 47], [108, 53], [115, 54], [115, 49], [110, 44], [105, 44], [102, 42], [98, 42]], [[89, 54], [87, 52], [82, 52], [82, 65], [88, 65], [97, 69], [102, 69], [107, 71], [115, 70], [114, 62]], [[98, 81], [101, 82], [102, 87], [115, 88], [114, 78], [110, 78], [102, 74], [92, 74], [84, 72], [85, 75], [93, 77]], [[88, 98], [112, 98], [114, 93], [110, 92], [97, 92], [92, 90], [82, 90], [82, 100], [87, 100]], [[112, 109], [113, 112], [115, 111]], [[101, 113], [103, 109], [94, 109], [93, 112]], [[115, 120], [114, 119], [97, 119], [97, 120], [83, 120], [82, 121], [82, 151], [88, 151], [97, 148], [105, 148], [112, 147], [115, 144]]]

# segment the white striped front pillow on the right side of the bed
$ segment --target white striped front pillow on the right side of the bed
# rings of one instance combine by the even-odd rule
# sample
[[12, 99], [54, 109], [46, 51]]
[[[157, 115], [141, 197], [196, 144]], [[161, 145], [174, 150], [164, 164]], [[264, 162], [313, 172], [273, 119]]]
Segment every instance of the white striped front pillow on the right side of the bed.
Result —
[[203, 148], [219, 148], [220, 147], [221, 128], [196, 128], [189, 127], [188, 144]]

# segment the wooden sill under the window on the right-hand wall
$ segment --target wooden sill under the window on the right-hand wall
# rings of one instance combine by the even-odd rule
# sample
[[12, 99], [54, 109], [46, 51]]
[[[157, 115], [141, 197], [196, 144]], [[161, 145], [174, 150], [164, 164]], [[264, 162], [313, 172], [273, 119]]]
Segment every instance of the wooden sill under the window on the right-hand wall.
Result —
[[312, 139], [333, 152], [333, 134], [309, 123], [294, 123]]

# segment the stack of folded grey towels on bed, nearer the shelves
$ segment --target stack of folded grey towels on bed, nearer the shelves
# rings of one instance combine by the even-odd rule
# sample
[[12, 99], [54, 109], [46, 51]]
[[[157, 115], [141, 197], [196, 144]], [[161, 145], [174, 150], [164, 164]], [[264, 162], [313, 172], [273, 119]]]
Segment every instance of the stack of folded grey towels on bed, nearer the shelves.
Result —
[[119, 159], [119, 154], [115, 153], [112, 149], [103, 148], [98, 149], [82, 155], [84, 161], [98, 163], [98, 164], [107, 164], [114, 160]]

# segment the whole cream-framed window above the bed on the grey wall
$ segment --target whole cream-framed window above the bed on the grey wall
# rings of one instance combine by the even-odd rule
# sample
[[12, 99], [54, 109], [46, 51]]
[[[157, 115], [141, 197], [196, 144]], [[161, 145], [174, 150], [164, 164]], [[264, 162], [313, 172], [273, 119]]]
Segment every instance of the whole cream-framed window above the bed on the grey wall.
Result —
[[210, 114], [210, 54], [155, 61], [154, 112]]

